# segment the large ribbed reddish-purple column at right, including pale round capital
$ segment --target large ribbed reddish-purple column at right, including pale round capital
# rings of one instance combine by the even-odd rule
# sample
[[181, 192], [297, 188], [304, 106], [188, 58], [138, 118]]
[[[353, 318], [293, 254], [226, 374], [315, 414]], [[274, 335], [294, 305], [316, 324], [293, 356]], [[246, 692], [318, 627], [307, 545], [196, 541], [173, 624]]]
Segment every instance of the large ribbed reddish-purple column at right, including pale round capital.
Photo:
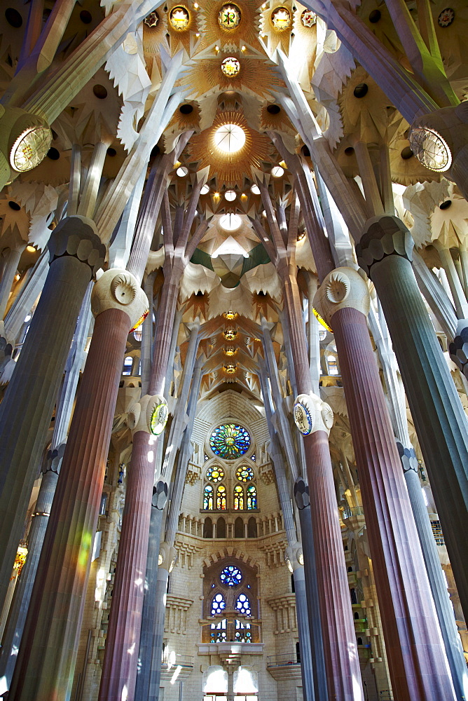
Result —
[[315, 308], [333, 328], [376, 578], [385, 648], [399, 701], [453, 700], [390, 416], [367, 330], [367, 285], [352, 268], [326, 276]]

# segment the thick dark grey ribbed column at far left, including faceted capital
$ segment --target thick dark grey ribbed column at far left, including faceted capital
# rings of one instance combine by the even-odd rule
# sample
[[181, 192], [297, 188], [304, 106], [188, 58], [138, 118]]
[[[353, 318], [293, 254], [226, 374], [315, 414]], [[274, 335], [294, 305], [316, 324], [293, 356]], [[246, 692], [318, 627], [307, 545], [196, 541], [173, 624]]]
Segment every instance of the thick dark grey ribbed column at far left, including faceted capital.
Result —
[[84, 217], [62, 220], [15, 372], [0, 404], [0, 606], [10, 580], [37, 465], [86, 287], [105, 248]]

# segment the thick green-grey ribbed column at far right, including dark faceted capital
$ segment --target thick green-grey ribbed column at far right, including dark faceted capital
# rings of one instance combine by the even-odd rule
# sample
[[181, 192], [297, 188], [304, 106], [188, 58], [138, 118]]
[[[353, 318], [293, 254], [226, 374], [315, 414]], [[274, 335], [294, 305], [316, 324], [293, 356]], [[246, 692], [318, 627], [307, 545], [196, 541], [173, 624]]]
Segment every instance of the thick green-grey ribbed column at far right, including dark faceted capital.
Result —
[[[370, 219], [356, 247], [382, 304], [457, 590], [468, 618], [468, 430], [411, 268], [413, 240], [397, 217]], [[443, 465], [443, 470], [441, 470]]]

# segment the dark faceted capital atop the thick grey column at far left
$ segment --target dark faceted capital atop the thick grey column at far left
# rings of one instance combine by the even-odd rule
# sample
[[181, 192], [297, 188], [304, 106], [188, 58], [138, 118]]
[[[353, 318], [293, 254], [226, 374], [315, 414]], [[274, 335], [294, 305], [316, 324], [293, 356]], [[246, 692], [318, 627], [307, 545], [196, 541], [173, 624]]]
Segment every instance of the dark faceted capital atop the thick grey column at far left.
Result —
[[96, 224], [88, 217], [65, 217], [50, 234], [50, 263], [71, 256], [88, 264], [91, 276], [104, 266], [106, 247], [98, 236]]

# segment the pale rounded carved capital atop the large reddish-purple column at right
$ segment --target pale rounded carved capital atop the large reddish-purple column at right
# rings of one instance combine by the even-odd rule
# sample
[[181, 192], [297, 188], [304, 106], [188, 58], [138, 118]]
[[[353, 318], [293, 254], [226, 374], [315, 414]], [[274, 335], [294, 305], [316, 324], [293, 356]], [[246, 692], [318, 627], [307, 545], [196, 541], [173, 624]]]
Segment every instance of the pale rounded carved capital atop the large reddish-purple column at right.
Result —
[[315, 294], [314, 307], [327, 324], [338, 309], [352, 308], [369, 313], [369, 290], [361, 275], [353, 268], [336, 268], [324, 279]]

